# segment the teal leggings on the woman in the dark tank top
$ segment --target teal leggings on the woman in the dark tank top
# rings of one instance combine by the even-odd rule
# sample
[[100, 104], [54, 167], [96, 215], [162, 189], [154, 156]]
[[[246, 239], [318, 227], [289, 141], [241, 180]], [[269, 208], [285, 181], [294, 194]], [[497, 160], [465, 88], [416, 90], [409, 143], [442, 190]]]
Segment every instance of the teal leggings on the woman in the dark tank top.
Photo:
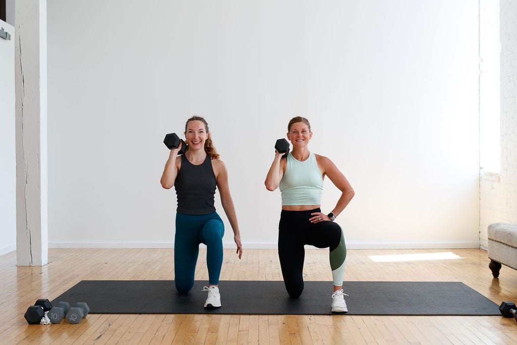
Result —
[[186, 215], [176, 212], [174, 235], [174, 282], [176, 290], [188, 292], [194, 286], [194, 271], [199, 245], [206, 245], [208, 283], [217, 285], [223, 264], [224, 224], [217, 212]]

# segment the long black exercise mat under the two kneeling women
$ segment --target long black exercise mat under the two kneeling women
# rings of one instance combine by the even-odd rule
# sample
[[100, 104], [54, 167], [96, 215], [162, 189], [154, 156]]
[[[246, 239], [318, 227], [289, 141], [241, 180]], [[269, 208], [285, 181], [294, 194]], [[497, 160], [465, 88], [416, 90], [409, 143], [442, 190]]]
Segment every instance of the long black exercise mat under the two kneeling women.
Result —
[[[306, 281], [299, 298], [283, 281], [220, 281], [222, 307], [204, 309], [205, 281], [179, 294], [173, 280], [83, 280], [52, 301], [86, 302], [90, 313], [332, 314], [332, 282]], [[500, 315], [490, 299], [462, 282], [348, 281], [349, 315]]]

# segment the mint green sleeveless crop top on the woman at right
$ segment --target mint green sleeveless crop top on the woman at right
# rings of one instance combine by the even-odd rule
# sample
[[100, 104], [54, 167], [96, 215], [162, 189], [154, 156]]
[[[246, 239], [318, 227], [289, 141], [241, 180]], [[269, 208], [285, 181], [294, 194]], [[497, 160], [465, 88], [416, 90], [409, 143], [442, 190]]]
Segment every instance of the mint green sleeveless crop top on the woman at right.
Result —
[[316, 163], [316, 156], [311, 152], [309, 158], [300, 162], [290, 152], [279, 187], [282, 205], [319, 205], [322, 199], [323, 178]]

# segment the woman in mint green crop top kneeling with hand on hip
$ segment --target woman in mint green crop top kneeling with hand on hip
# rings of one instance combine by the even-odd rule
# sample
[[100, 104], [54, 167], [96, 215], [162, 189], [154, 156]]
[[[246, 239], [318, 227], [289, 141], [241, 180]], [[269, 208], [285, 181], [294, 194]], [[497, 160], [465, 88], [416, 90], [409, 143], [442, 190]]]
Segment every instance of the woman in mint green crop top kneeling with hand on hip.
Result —
[[[348, 311], [343, 293], [346, 246], [343, 231], [334, 219], [354, 197], [354, 189], [327, 157], [309, 151], [311, 125], [297, 116], [287, 125], [287, 139], [293, 145], [287, 157], [276, 152], [266, 177], [266, 188], [280, 187], [282, 212], [278, 227], [278, 256], [287, 293], [297, 298], [303, 291], [304, 245], [329, 248], [332, 269], [332, 312]], [[341, 197], [328, 214], [320, 204], [325, 176], [341, 190]]]

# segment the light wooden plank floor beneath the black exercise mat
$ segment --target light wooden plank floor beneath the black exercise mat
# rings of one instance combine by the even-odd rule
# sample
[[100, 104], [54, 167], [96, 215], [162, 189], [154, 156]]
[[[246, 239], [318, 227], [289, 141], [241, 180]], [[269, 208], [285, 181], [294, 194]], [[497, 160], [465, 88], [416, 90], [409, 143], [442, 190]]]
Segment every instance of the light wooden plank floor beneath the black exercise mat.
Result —
[[[455, 258], [436, 254], [446, 252]], [[205, 254], [196, 280], [208, 279]], [[517, 303], [517, 271], [504, 266], [493, 279], [481, 249], [348, 250], [346, 262], [345, 280], [461, 281], [497, 304]], [[51, 325], [23, 318], [36, 299], [53, 299], [83, 279], [172, 280], [172, 267], [172, 249], [51, 249], [43, 267], [17, 267], [15, 252], [1, 256], [0, 343], [517, 343], [517, 322], [499, 316], [88, 314], [80, 324]], [[328, 280], [331, 294], [328, 251], [307, 250], [304, 272], [306, 280]], [[277, 251], [245, 250], [238, 260], [225, 250], [220, 279], [281, 280]], [[229, 296], [221, 294], [224, 303]]]

